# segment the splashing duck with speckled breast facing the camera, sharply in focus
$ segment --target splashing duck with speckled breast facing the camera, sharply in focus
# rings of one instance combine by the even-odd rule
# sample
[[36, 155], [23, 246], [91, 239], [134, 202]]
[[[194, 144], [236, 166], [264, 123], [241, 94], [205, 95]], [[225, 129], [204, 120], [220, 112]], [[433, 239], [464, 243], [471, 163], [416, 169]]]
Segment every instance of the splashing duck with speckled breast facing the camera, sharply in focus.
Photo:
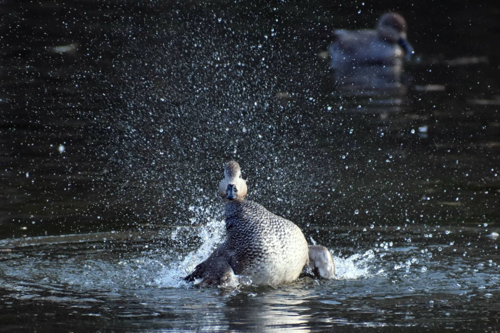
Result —
[[252, 285], [291, 283], [304, 272], [323, 279], [335, 277], [328, 249], [308, 245], [293, 222], [244, 200], [247, 185], [236, 161], [225, 164], [217, 193], [224, 202], [226, 239], [184, 280], [233, 287], [238, 277]]

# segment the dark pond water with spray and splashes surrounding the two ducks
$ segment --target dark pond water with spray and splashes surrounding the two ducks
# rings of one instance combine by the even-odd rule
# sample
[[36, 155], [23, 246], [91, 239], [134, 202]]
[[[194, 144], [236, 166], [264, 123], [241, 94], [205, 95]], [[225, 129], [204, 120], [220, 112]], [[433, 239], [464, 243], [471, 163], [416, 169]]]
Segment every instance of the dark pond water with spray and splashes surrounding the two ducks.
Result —
[[[498, 330], [498, 5], [1, 5], [3, 330]], [[386, 10], [403, 89], [333, 85], [333, 29]], [[179, 281], [223, 237], [229, 159], [336, 280]]]

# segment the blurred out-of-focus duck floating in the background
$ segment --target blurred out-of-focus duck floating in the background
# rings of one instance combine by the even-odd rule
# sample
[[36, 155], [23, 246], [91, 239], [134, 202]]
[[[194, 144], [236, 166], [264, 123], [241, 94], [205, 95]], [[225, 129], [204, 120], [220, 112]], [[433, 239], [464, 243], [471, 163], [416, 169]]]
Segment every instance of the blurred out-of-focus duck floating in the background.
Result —
[[352, 64], [401, 66], [403, 58], [414, 53], [406, 38], [406, 21], [401, 14], [386, 12], [375, 29], [336, 29], [337, 40], [329, 45], [330, 68], [342, 69]]

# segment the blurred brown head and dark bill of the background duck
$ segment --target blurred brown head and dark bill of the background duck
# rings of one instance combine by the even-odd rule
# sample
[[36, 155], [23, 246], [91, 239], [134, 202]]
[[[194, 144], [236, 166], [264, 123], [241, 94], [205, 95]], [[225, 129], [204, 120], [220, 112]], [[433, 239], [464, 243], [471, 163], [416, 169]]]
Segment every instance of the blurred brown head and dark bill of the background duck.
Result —
[[413, 47], [406, 39], [406, 21], [400, 14], [395, 12], [383, 14], [378, 19], [375, 29], [380, 40], [399, 44], [407, 57], [413, 53]]

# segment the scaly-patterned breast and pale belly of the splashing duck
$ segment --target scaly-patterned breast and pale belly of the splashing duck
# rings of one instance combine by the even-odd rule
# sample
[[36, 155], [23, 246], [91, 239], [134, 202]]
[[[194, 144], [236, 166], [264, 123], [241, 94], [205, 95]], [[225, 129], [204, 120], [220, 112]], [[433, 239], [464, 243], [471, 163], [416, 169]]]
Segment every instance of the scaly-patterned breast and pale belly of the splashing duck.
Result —
[[229, 264], [234, 274], [248, 276], [252, 284], [292, 282], [308, 263], [300, 229], [255, 202], [226, 203], [225, 222]]

